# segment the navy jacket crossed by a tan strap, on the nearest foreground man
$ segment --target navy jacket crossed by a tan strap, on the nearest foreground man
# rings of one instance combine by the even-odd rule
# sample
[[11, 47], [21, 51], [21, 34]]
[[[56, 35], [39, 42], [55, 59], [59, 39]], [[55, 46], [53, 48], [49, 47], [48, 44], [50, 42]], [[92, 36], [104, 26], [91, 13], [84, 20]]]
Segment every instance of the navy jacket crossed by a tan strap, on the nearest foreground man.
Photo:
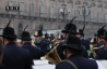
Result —
[[[78, 69], [98, 69], [94, 60], [82, 56], [71, 56], [68, 60], [71, 60]], [[74, 67], [68, 61], [61, 61], [56, 65], [56, 69], [74, 69]]]

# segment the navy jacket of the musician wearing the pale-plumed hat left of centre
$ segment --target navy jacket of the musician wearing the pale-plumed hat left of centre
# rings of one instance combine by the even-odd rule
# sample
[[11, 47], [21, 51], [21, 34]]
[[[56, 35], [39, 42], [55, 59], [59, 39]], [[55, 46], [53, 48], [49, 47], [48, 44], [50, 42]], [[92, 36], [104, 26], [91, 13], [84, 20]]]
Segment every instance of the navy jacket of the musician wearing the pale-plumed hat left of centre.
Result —
[[35, 45], [43, 51], [44, 55], [49, 52], [49, 44], [43, 39], [38, 42], [35, 42]]

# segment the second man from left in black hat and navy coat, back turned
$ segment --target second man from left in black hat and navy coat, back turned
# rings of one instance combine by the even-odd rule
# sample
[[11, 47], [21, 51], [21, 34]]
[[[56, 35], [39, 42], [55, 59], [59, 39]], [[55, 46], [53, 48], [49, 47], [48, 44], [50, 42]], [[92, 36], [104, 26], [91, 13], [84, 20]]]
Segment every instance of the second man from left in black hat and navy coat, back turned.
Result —
[[33, 59], [40, 59], [40, 57], [43, 56], [41, 50], [39, 50], [37, 46], [32, 45], [29, 32], [23, 31], [20, 39], [22, 40], [22, 47], [29, 51]]

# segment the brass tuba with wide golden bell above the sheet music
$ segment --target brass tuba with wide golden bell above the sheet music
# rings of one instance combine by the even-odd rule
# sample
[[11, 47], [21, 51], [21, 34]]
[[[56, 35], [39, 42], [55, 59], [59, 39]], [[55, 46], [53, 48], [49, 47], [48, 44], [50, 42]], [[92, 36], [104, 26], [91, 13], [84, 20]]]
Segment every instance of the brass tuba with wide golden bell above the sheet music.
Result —
[[57, 46], [58, 45], [59, 45], [59, 43], [55, 42], [54, 49], [45, 55], [45, 58], [55, 65], [61, 61], [61, 58], [59, 57], [59, 55], [57, 53]]

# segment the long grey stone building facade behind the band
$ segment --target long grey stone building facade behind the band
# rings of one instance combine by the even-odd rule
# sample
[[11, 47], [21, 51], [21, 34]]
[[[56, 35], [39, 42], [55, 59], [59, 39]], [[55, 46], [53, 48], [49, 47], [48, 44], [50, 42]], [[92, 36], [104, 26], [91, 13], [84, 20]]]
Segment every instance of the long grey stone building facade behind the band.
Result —
[[[5, 11], [5, 6], [19, 6], [20, 10]], [[85, 36], [94, 37], [95, 31], [107, 23], [107, 0], [0, 0], [1, 31], [10, 19], [16, 34], [26, 25], [31, 33], [40, 25], [44, 30], [61, 30], [74, 16], [78, 28], [85, 23]]]

